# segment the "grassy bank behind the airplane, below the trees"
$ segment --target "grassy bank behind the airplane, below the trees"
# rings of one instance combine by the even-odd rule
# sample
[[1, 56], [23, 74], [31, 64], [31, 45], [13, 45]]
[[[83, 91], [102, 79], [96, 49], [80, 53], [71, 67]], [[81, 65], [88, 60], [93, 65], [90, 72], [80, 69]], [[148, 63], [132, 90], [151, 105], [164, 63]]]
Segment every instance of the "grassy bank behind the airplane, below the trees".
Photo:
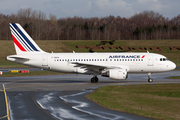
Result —
[[[42, 50], [46, 52], [89, 52], [89, 49], [78, 49], [75, 46], [95, 46], [99, 44], [100, 40], [36, 40], [35, 41]], [[106, 46], [110, 46], [107, 44]], [[124, 47], [160, 47], [162, 51], [149, 50], [149, 52], [159, 53], [168, 57], [169, 60], [180, 66], [180, 51], [169, 50], [170, 46], [179, 46], [180, 40], [117, 40], [113, 46], [124, 46]], [[6, 56], [13, 55], [15, 53], [14, 45], [12, 40], [1, 40], [0, 41], [0, 68], [7, 67], [25, 67], [24, 65], [16, 64], [5, 60]], [[97, 50], [96, 52], [119, 52], [117, 49], [106, 49]], [[136, 52], [136, 51], [132, 51]], [[138, 51], [139, 52], [139, 51]], [[142, 52], [146, 52], [145, 50]]]

